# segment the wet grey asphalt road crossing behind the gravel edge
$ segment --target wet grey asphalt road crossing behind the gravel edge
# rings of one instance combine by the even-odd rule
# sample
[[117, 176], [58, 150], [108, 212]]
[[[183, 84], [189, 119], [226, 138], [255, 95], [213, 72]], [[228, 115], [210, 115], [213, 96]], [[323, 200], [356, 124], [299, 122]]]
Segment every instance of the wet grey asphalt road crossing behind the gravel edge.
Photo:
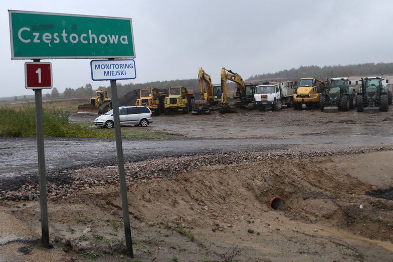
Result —
[[[36, 138], [0, 139], [0, 177], [37, 173]], [[393, 145], [391, 134], [317, 132], [287, 138], [248, 139], [123, 139], [126, 161], [163, 156], [231, 151], [309, 151], [346, 147]], [[114, 139], [45, 138], [47, 170], [63, 170], [117, 163]]]

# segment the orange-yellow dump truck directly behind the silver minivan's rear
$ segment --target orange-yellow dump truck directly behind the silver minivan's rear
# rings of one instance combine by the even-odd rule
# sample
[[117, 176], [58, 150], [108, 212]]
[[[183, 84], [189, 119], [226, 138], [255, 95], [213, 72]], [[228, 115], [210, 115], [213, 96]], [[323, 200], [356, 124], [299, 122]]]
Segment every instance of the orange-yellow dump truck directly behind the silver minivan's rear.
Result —
[[142, 88], [136, 106], [147, 106], [156, 116], [164, 111], [165, 92], [159, 92], [156, 88]]

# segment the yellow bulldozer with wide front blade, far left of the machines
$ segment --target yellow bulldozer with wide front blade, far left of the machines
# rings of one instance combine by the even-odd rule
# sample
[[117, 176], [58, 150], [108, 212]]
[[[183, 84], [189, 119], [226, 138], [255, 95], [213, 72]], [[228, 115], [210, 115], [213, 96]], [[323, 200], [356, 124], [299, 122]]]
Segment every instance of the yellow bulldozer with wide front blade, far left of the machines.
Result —
[[112, 110], [112, 100], [108, 97], [108, 90], [97, 89], [95, 97], [90, 98], [89, 104], [78, 106], [78, 113], [103, 114]]

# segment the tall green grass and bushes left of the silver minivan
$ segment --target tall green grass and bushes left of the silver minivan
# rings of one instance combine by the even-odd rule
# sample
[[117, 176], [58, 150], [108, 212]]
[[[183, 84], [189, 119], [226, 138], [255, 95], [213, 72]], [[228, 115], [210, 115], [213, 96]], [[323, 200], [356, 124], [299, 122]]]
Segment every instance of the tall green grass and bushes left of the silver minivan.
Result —
[[[44, 136], [46, 137], [114, 137], [113, 132], [103, 131], [79, 123], [69, 122], [68, 111], [44, 109]], [[20, 109], [0, 108], [0, 137], [36, 136], [36, 111], [34, 106]]]

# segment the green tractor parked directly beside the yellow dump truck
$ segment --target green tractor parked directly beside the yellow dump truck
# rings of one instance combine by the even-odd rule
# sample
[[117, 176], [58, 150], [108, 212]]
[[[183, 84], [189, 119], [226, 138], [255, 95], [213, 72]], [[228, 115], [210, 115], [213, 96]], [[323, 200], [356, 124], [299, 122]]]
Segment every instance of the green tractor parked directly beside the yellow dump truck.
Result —
[[347, 77], [330, 79], [330, 87], [326, 94], [319, 97], [319, 107], [323, 112], [348, 111], [356, 107], [356, 91], [350, 87], [351, 81]]

